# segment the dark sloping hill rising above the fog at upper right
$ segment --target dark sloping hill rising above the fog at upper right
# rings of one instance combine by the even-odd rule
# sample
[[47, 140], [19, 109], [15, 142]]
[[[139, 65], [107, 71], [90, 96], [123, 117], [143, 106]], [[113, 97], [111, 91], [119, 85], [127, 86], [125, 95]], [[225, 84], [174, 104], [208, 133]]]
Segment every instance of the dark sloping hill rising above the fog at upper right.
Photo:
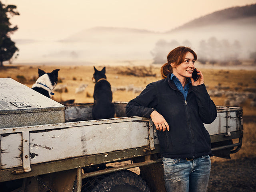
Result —
[[[236, 22], [236, 24], [254, 24], [251, 23], [251, 20], [256, 19], [256, 4], [248, 5], [248, 6], [237, 6], [232, 8], [227, 8], [224, 10], [216, 11], [212, 14], [208, 14], [206, 16], [202, 16], [200, 18], [194, 19], [186, 24], [177, 27], [168, 32], [174, 32], [176, 30], [183, 30], [186, 28], [196, 28], [196, 27], [205, 27], [209, 25], [216, 24], [225, 24], [230, 22]], [[246, 22], [248, 20], [248, 22]]]

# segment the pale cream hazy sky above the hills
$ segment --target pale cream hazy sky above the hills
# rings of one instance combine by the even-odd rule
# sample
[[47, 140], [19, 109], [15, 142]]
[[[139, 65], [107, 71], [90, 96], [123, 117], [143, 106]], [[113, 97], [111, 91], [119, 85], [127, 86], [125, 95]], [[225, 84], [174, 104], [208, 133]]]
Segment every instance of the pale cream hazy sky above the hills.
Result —
[[212, 12], [256, 0], [1, 0], [20, 16], [11, 38], [59, 40], [95, 26], [164, 32]]

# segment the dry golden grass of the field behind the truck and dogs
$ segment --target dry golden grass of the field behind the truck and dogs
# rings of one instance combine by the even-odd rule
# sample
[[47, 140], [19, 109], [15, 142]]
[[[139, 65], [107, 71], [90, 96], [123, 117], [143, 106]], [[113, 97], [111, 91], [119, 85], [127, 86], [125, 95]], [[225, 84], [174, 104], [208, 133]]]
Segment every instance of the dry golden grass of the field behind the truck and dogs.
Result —
[[[96, 66], [101, 70], [103, 66]], [[121, 87], [133, 85], [134, 87], [143, 87], [150, 82], [160, 80], [160, 66], [150, 66], [149, 71], [156, 76], [128, 76], [120, 72], [125, 72], [126, 66], [106, 66], [107, 80], [112, 87]], [[92, 74], [94, 72], [93, 66], [17, 66], [0, 68], [0, 77], [11, 77], [28, 87], [36, 81], [38, 77], [38, 68], [51, 72], [59, 68], [59, 85], [66, 86], [66, 92], [55, 92], [52, 99], [62, 102], [65, 100], [75, 99], [76, 103], [93, 102], [94, 83], [92, 82]], [[137, 66], [135, 70], [143, 70], [143, 67]], [[256, 88], [256, 71], [248, 70], [218, 70], [218, 69], [203, 69], [205, 84], [208, 90], [216, 89], [216, 86], [228, 87], [228, 90], [236, 90], [243, 92], [244, 88]], [[81, 84], [88, 84], [88, 87], [83, 93], [75, 93], [76, 88]], [[135, 98], [138, 93], [133, 91], [118, 90], [113, 93], [113, 101], [129, 101]], [[212, 97], [216, 105], [225, 105], [224, 97]], [[244, 121], [244, 138], [242, 149], [236, 153], [231, 154], [232, 158], [241, 158], [248, 156], [256, 156], [256, 107], [250, 106], [252, 98], [246, 99], [242, 103], [244, 116], [250, 116], [248, 122]], [[247, 118], [248, 119], [248, 118]], [[213, 161], [223, 159], [213, 158]]]

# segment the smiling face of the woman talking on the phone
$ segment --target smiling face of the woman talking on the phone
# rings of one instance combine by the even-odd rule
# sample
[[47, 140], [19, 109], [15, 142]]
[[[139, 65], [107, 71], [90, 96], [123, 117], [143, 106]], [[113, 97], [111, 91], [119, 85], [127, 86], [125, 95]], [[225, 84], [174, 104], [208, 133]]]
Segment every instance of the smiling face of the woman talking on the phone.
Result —
[[194, 66], [195, 58], [190, 52], [187, 52], [183, 62], [178, 66], [172, 65], [172, 73], [179, 79], [184, 80], [186, 78], [192, 77], [192, 72], [195, 68]]

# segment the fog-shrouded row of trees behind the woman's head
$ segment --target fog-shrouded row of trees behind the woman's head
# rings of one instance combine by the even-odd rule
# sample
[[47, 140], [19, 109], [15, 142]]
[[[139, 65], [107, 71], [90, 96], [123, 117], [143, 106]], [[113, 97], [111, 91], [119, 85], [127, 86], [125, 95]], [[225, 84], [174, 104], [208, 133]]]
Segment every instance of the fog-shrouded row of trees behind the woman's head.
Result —
[[[176, 40], [172, 40], [170, 42], [166, 40], [158, 40], [151, 51], [153, 63], [162, 64], [167, 62], [166, 57], [170, 50], [180, 45], [192, 47], [191, 42], [188, 40], [185, 40], [181, 44]], [[242, 46], [238, 40], [230, 42], [226, 39], [218, 40], [215, 37], [211, 37], [208, 40], [201, 40], [199, 42], [196, 53], [198, 55], [198, 61], [202, 64], [219, 63], [222, 65], [238, 65], [241, 64], [238, 59], [241, 51]], [[250, 58], [256, 59], [254, 58], [254, 54], [255, 53], [252, 53]]]

